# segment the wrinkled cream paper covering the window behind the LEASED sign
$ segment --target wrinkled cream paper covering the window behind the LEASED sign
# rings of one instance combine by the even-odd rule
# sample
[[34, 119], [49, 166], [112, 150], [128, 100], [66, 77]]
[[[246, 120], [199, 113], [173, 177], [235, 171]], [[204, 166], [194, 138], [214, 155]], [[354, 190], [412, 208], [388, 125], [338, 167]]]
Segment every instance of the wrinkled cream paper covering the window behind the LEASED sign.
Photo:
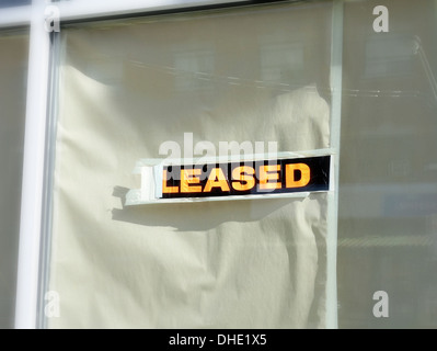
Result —
[[329, 147], [330, 21], [330, 5], [269, 5], [62, 31], [49, 327], [324, 326], [326, 194], [123, 196], [136, 160], [184, 132]]

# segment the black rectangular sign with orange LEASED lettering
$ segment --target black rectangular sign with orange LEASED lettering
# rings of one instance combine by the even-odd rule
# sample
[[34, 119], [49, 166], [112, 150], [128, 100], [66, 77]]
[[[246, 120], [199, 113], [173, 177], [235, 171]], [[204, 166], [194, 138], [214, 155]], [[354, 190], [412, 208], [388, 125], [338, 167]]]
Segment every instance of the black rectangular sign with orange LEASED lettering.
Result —
[[159, 199], [327, 191], [330, 156], [163, 166]]

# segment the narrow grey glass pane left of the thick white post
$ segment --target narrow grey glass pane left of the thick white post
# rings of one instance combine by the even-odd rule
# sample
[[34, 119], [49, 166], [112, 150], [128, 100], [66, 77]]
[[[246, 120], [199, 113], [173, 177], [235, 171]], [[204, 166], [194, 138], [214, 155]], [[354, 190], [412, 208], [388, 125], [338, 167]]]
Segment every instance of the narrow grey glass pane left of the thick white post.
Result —
[[0, 328], [15, 308], [28, 36], [0, 32]]

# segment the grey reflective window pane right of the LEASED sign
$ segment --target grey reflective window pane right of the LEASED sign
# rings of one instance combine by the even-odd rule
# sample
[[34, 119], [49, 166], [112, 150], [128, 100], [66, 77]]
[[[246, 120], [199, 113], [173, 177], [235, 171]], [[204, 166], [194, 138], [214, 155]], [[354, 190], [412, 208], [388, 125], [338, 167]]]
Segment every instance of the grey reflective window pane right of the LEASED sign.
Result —
[[[388, 32], [373, 31], [377, 5]], [[342, 328], [437, 327], [436, 15], [435, 1], [345, 4]], [[373, 315], [378, 291], [388, 317]]]

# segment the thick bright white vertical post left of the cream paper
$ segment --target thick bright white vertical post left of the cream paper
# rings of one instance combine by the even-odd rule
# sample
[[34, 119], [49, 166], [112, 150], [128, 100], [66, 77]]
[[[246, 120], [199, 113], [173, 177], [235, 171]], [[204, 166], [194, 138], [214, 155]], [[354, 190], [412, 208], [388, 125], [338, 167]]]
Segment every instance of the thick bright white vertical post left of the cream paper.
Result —
[[15, 328], [37, 327], [50, 43], [44, 0], [33, 0], [28, 50]]

